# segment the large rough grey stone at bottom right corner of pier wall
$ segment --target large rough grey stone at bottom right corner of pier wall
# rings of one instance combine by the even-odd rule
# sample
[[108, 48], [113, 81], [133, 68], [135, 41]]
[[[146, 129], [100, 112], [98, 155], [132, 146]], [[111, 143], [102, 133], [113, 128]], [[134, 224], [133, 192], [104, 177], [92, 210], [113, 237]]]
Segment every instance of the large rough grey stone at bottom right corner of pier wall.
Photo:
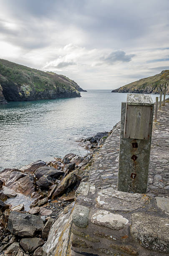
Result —
[[169, 253], [169, 218], [133, 213], [131, 235], [149, 250]]

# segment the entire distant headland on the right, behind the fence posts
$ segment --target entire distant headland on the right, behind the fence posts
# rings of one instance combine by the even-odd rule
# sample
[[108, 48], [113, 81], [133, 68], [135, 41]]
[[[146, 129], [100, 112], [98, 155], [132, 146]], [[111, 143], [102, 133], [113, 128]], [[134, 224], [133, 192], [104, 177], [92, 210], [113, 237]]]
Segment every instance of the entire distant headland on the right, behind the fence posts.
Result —
[[169, 94], [169, 70], [164, 70], [155, 76], [146, 77], [136, 82], [126, 84], [111, 92], [158, 94], [161, 90], [164, 91], [164, 89], [166, 89], [166, 94]]

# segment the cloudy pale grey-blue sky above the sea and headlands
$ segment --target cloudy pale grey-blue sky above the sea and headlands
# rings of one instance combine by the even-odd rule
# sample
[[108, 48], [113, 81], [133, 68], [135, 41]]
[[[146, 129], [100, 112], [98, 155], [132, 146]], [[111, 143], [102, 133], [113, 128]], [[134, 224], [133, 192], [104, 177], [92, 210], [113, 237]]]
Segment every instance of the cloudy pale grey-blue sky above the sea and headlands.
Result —
[[115, 89], [169, 69], [169, 0], [0, 0], [0, 59]]

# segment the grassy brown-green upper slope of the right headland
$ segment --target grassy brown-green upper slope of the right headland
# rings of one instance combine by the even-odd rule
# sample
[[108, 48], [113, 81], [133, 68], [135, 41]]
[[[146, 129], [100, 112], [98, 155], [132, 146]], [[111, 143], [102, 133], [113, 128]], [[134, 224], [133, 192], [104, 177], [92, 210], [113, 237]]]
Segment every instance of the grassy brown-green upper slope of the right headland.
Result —
[[[168, 84], [169, 83], [169, 70], [164, 70], [160, 74], [156, 74], [152, 77], [146, 77], [143, 79], [140, 79], [136, 82], [132, 82], [130, 84], [126, 84], [122, 87], [120, 87], [120, 90], [123, 89], [145, 89], [146, 87], [152, 87], [153, 89], [158, 89], [161, 84]], [[119, 91], [120, 92], [120, 91]]]

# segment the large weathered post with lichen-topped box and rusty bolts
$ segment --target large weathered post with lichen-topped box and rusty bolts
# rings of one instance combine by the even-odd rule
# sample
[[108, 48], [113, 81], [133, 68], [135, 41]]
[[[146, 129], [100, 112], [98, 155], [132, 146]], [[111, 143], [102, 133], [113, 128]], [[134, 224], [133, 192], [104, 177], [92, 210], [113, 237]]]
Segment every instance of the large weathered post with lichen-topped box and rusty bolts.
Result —
[[146, 193], [154, 103], [151, 96], [128, 94], [121, 103], [118, 190]]

